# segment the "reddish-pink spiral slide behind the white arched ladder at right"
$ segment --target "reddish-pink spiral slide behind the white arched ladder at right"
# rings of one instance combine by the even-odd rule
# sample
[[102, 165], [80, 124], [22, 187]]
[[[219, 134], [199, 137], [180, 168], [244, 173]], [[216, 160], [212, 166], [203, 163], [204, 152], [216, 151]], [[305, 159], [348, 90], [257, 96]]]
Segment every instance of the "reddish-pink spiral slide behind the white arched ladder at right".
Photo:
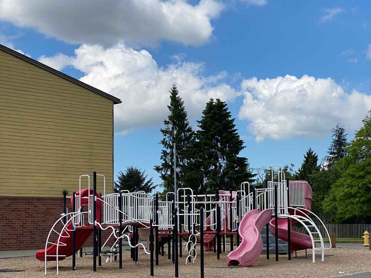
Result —
[[[306, 181], [301, 181], [301, 182], [305, 182], [305, 185], [304, 185], [304, 208], [308, 209], [310, 211], [311, 208], [312, 208], [312, 196], [313, 196], [312, 188], [311, 188], [311, 186], [309, 185], [308, 182], [306, 182]], [[290, 215], [293, 215], [293, 214], [294, 214], [294, 211], [290, 210]], [[298, 212], [296, 212], [296, 215], [307, 216], [308, 214], [309, 214], [309, 212], [303, 212], [302, 214], [300, 214], [300, 213], [298, 214]], [[294, 224], [295, 222], [297, 222], [297, 221], [294, 220], [294, 219], [291, 220], [291, 224]], [[276, 235], [275, 228], [276, 228], [275, 219], [272, 219], [270, 221], [270, 231], [272, 232], [272, 234], [274, 236]], [[292, 226], [290, 227], [290, 229], [292, 230]], [[288, 241], [287, 232], [288, 232], [287, 219], [286, 218], [278, 219], [278, 238], [282, 239], [284, 241]], [[312, 249], [311, 237], [309, 235], [306, 235], [306, 234], [301, 234], [301, 233], [292, 231], [291, 232], [291, 245], [290, 246], [291, 246], [291, 251], [299, 251], [299, 250], [303, 250], [303, 249]]]

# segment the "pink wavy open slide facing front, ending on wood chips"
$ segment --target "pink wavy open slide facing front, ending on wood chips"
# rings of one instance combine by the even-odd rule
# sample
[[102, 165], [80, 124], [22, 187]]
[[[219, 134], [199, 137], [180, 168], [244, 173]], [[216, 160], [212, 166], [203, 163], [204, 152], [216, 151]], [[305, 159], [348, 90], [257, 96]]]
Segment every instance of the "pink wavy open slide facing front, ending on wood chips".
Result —
[[265, 209], [260, 213], [259, 210], [254, 209], [243, 216], [239, 227], [242, 242], [236, 250], [228, 254], [228, 265], [249, 267], [257, 260], [263, 250], [263, 239], [260, 232], [270, 219], [272, 219], [271, 209]]

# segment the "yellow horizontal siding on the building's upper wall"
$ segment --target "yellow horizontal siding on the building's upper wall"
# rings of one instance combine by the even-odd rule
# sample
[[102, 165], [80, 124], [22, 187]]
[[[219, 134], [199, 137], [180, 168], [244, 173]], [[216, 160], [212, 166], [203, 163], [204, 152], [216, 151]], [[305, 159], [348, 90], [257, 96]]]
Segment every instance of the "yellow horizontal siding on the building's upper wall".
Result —
[[93, 171], [111, 193], [112, 109], [111, 100], [0, 50], [0, 196], [60, 197]]

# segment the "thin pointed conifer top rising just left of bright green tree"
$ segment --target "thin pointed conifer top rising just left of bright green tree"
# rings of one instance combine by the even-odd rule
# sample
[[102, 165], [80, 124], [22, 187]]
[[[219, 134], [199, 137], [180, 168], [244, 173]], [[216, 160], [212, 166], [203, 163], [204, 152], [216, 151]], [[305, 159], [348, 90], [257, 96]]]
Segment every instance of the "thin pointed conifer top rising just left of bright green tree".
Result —
[[347, 133], [344, 127], [338, 123], [332, 131], [332, 142], [328, 148], [328, 155], [325, 160], [327, 167], [332, 167], [335, 162], [347, 155]]

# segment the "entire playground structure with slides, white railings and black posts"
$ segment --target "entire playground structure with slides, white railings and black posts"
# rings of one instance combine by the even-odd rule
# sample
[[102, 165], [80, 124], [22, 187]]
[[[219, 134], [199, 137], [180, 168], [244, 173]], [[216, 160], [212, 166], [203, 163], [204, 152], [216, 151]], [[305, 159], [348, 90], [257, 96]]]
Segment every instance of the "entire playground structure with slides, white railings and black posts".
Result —
[[[226, 236], [230, 236], [230, 252], [227, 255], [228, 265], [252, 265], [263, 249], [260, 232], [266, 225], [267, 250], [269, 250], [269, 229], [275, 235], [276, 261], [278, 261], [278, 238], [288, 241], [288, 257], [302, 249], [312, 249], [312, 262], [315, 252], [321, 252], [324, 261], [325, 247], [323, 237], [313, 219], [321, 222], [311, 212], [312, 189], [308, 182], [289, 181], [285, 179], [282, 166], [278, 172], [278, 181], [266, 181], [265, 188], [255, 188], [243, 182], [239, 191], [217, 191], [215, 194], [195, 195], [190, 188], [178, 188], [177, 194], [169, 192], [166, 200], [159, 200], [145, 192], [105, 193], [105, 178], [93, 173], [93, 188], [90, 187], [90, 176], [82, 175], [79, 179], [79, 191], [70, 197], [72, 212], [67, 212], [66, 199], [64, 212], [50, 229], [45, 249], [36, 253], [36, 258], [45, 262], [58, 262], [72, 255], [72, 269], [75, 270], [76, 251], [79, 250], [93, 233], [93, 271], [102, 266], [102, 256], [112, 261], [119, 256], [119, 268], [122, 268], [122, 240], [126, 239], [131, 247], [133, 261], [138, 261], [140, 248], [150, 255], [153, 276], [154, 262], [158, 265], [158, 256], [164, 256], [164, 245], [168, 245], [168, 259], [175, 264], [175, 277], [178, 277], [178, 257], [183, 257], [185, 264], [195, 262], [196, 245], [200, 245], [201, 277], [203, 271], [203, 252], [214, 250], [217, 259], [221, 254], [221, 237], [223, 251], [226, 252]], [[104, 178], [104, 193], [96, 192], [97, 176]], [[82, 189], [82, 179], [87, 179], [88, 188]], [[86, 208], [86, 209], [85, 209]], [[292, 224], [299, 222], [305, 227], [308, 235], [292, 231]], [[56, 227], [62, 224], [62, 228]], [[323, 223], [322, 223], [323, 224]], [[110, 230], [111, 235], [102, 245], [101, 232]], [[58, 239], [50, 241], [55, 234]], [[147, 246], [140, 242], [139, 235], [148, 234]], [[233, 236], [237, 235], [237, 248], [233, 247]], [[326, 230], [326, 237], [329, 238]], [[110, 238], [114, 244], [109, 252], [102, 249]], [[172, 248], [170, 243], [173, 242]], [[184, 241], [184, 243], [182, 243]], [[178, 249], [179, 248], [179, 249]], [[172, 250], [171, 250], [172, 249]], [[267, 251], [267, 259], [269, 251]], [[80, 252], [82, 256], [82, 252]], [[155, 259], [154, 259], [155, 257]]]

